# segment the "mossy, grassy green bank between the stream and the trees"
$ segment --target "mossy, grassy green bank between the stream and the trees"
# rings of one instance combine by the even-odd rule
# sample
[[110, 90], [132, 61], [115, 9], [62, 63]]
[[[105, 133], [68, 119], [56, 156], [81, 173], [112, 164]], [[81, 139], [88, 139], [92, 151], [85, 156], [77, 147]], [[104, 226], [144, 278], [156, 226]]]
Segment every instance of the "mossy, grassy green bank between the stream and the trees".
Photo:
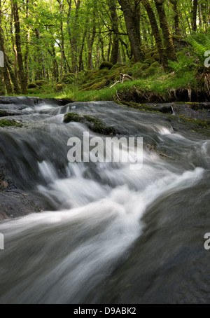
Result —
[[[144, 63], [130, 62], [95, 71], [66, 74], [58, 83], [45, 81], [30, 83], [28, 96], [41, 98], [69, 98], [76, 102], [114, 100], [117, 102], [164, 103], [164, 102], [208, 102], [209, 90], [204, 80], [197, 75], [193, 60], [183, 51], [177, 53], [179, 63], [165, 73], [156, 51], [147, 53]], [[120, 74], [132, 80], [120, 81]], [[113, 86], [114, 85], [114, 86]], [[113, 86], [113, 87], [112, 87]]]

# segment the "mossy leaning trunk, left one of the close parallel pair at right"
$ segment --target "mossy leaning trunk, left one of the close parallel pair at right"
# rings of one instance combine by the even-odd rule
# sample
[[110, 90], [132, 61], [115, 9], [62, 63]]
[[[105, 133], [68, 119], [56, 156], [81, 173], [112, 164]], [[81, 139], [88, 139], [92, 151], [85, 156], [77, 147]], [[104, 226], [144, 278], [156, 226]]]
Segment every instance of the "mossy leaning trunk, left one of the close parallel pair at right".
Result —
[[168, 63], [167, 63], [167, 55], [165, 52], [165, 48], [162, 45], [162, 39], [160, 36], [159, 28], [158, 28], [158, 22], [155, 18], [155, 13], [153, 11], [153, 8], [151, 6], [151, 3], [148, 0], [142, 0], [142, 3], [144, 4], [144, 7], [146, 8], [146, 12], [148, 14], [148, 18], [151, 22], [151, 27], [153, 30], [153, 36], [155, 38], [155, 42], [158, 48], [158, 53], [160, 55], [161, 63], [165, 70], [167, 70]]

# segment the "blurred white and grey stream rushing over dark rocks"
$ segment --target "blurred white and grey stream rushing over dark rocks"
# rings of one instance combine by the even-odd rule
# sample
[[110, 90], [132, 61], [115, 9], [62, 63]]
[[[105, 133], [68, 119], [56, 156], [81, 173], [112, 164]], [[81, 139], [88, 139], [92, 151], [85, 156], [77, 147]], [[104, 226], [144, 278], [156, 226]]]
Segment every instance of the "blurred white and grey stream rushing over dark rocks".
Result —
[[[1, 163], [45, 212], [0, 223], [0, 303], [210, 303], [207, 137], [114, 102], [22, 97], [1, 109], [27, 123], [0, 130]], [[68, 139], [89, 131], [64, 124], [69, 111], [143, 137], [143, 168], [69, 163]]]

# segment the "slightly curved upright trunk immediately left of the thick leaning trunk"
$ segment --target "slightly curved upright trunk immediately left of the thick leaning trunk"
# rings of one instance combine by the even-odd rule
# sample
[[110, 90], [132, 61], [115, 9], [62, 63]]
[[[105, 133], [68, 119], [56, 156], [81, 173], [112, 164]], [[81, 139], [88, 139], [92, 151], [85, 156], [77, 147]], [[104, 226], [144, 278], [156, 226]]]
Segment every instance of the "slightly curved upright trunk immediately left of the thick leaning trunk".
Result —
[[118, 55], [119, 55], [119, 38], [118, 38], [119, 29], [118, 29], [118, 15], [116, 11], [116, 1], [109, 0], [108, 4], [109, 4], [109, 11], [111, 13], [112, 29], [114, 33], [110, 62], [112, 64], [116, 64], [118, 62]]

